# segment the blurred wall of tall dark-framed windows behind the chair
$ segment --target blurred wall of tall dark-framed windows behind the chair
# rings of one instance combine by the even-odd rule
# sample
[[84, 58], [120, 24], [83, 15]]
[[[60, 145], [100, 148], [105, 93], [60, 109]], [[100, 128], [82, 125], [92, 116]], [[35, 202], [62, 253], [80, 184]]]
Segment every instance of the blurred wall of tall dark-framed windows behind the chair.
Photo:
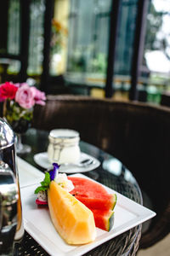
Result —
[[170, 105], [169, 0], [3, 0], [0, 83]]

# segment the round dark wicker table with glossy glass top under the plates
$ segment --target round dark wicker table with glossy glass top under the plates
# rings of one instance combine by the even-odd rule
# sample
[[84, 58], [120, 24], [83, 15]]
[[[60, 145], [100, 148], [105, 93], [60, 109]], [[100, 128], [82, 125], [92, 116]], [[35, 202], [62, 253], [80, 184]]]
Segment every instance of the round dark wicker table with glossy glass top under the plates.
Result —
[[[20, 155], [20, 157], [44, 172], [45, 169], [37, 166], [33, 160], [33, 156], [34, 154], [47, 151], [48, 131], [30, 129], [23, 137], [23, 143], [31, 145], [31, 153]], [[80, 148], [82, 152], [94, 156], [101, 163], [97, 169], [84, 172], [84, 175], [94, 178], [99, 183], [103, 183], [133, 201], [142, 204], [142, 195], [139, 185], [132, 173], [122, 165], [121, 161], [88, 143], [81, 142]], [[85, 255], [135, 255], [137, 247], [139, 246], [140, 235], [141, 225], [138, 225], [131, 230], [127, 230], [122, 235], [105, 242], [101, 246], [94, 248]], [[18, 255], [48, 255], [27, 232], [16, 252]]]

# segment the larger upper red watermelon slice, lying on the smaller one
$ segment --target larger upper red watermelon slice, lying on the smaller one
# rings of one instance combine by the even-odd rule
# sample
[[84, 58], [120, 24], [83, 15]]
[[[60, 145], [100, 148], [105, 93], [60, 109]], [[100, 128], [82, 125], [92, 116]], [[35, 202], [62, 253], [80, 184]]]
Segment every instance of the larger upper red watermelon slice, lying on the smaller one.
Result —
[[99, 210], [113, 210], [115, 207], [116, 195], [109, 194], [101, 184], [84, 177], [68, 178], [75, 187], [71, 195], [75, 195], [86, 207]]

